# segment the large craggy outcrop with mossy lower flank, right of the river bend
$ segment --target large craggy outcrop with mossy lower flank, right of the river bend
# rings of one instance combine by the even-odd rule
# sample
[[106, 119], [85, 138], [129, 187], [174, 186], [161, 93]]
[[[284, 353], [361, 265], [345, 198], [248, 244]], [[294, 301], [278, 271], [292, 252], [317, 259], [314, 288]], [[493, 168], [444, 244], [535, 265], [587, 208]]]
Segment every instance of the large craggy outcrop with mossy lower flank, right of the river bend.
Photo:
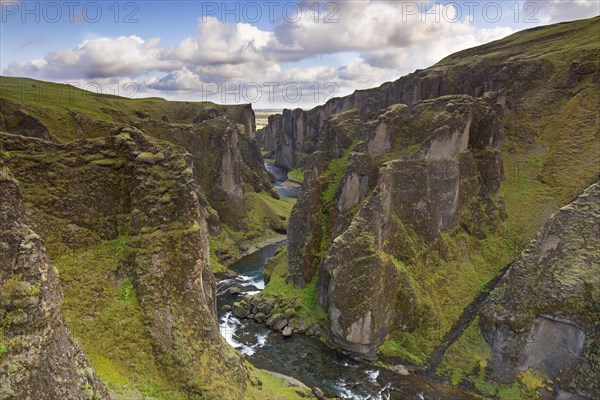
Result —
[[[334, 181], [335, 194], [324, 196], [318, 300], [329, 314], [331, 340], [374, 357], [393, 331], [448, 318], [442, 296], [433, 293], [450, 282], [427, 282], [428, 270], [456, 256], [453, 228], [475, 226], [475, 219], [481, 231], [492, 230], [500, 222], [495, 194], [502, 164], [488, 160], [498, 158], [502, 130], [485, 102], [453, 96], [412, 111], [386, 109], [362, 132], [365, 142], [350, 153], [339, 184]], [[380, 153], [381, 143], [389, 144], [386, 152]], [[310, 219], [301, 214], [302, 205], [300, 219]], [[290, 229], [296, 217], [295, 211]], [[295, 279], [303, 286], [317, 269], [302, 265], [306, 251], [293, 258], [295, 239], [290, 236], [290, 276], [304, 277]]]

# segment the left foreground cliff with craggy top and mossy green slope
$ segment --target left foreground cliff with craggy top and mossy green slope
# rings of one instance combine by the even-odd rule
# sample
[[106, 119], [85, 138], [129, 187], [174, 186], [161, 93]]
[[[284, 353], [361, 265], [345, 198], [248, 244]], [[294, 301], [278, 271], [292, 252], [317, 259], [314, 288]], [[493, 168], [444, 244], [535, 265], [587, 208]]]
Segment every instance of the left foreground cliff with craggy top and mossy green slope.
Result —
[[251, 372], [218, 331], [190, 154], [133, 128], [69, 144], [1, 133], [0, 143], [100, 378], [118, 391], [241, 399]]

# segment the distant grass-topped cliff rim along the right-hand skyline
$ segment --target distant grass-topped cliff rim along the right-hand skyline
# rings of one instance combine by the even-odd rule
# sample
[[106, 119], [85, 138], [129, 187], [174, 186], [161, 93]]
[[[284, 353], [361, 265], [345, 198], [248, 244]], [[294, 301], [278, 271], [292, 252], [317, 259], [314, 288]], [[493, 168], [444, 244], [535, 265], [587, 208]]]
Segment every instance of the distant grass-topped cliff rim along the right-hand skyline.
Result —
[[[508, 38], [448, 56], [433, 67], [417, 70], [378, 88], [357, 90], [305, 111], [284, 110], [269, 117], [257, 134], [276, 164], [305, 166], [319, 142], [323, 121], [355, 108], [368, 121], [393, 104], [411, 107], [421, 100], [451, 94], [481, 97], [497, 93], [506, 110], [515, 110], [527, 92], [550, 81], [554, 92], [574, 89], [596, 74], [598, 18], [525, 30]], [[565, 63], [564, 60], [570, 60]], [[547, 99], [552, 101], [552, 99]]]

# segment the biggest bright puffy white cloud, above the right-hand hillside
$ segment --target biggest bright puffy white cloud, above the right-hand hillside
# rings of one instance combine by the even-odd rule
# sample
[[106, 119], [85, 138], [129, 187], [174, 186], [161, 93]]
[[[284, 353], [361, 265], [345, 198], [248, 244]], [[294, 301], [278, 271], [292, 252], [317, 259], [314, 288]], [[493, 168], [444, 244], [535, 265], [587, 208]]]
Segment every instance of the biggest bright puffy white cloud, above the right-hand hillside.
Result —
[[[499, 39], [510, 28], [487, 30], [486, 37], [469, 22], [456, 19], [453, 5], [433, 4], [427, 13], [415, 14], [414, 2], [351, 1], [339, 3], [337, 23], [315, 23], [311, 13], [299, 23], [281, 22], [268, 52], [285, 60], [344, 51], [359, 52], [366, 62], [382, 68], [403, 68], [412, 54], [419, 67], [438, 61], [452, 51]], [[420, 3], [419, 3], [420, 4]], [[445, 51], [431, 51], [430, 48]], [[425, 50], [425, 51], [424, 51]], [[413, 56], [413, 61], [415, 57]]]

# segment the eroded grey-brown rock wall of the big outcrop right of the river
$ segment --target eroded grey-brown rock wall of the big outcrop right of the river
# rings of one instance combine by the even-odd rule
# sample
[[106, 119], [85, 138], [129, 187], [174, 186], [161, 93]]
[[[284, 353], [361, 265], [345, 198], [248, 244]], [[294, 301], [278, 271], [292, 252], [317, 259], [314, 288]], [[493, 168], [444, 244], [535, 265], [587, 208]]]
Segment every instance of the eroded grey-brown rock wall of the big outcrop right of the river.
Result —
[[[404, 114], [396, 118], [403, 129], [428, 126], [429, 134], [421, 134], [425, 138], [419, 151], [401, 155], [397, 135], [402, 130], [395, 130], [388, 143], [398, 143], [400, 148], [390, 147], [388, 158], [398, 159], [380, 161], [375, 171], [375, 155], [352, 154], [349, 165], [353, 167], [346, 168], [334, 197], [340, 213], [329, 214], [336, 219], [334, 239], [319, 268], [319, 303], [328, 311], [332, 341], [368, 357], [375, 356], [392, 326], [410, 330], [420, 314], [429, 312], [418, 303], [417, 287], [398, 265], [414, 258], [415, 251], [438, 251], [432, 244], [456, 225], [461, 210], [473, 199], [495, 207], [494, 192], [482, 184], [477, 158], [482, 152], [497, 151], [502, 137], [500, 115], [468, 96], [417, 104], [413, 112], [402, 107], [386, 111], [390, 112]], [[380, 127], [381, 121], [370, 126]], [[359, 150], [377, 147], [369, 144], [379, 141], [378, 134], [368, 137]], [[361, 163], [365, 159], [369, 162]], [[501, 164], [497, 168], [499, 177]], [[374, 180], [372, 188], [369, 180]], [[348, 226], [343, 211], [357, 206]], [[415, 238], [427, 250], [415, 248]], [[294, 271], [302, 265], [290, 260], [289, 268]]]

